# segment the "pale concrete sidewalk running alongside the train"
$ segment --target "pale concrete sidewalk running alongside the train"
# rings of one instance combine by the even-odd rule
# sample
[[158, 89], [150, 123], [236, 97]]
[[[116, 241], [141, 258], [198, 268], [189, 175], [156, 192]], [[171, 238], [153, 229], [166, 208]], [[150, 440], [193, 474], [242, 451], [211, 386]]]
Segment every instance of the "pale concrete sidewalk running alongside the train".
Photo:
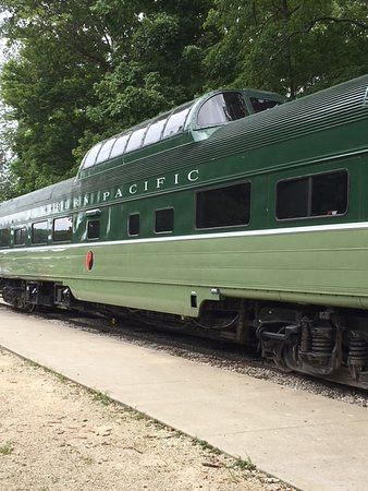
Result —
[[0, 345], [303, 490], [368, 489], [368, 409], [1, 306]]

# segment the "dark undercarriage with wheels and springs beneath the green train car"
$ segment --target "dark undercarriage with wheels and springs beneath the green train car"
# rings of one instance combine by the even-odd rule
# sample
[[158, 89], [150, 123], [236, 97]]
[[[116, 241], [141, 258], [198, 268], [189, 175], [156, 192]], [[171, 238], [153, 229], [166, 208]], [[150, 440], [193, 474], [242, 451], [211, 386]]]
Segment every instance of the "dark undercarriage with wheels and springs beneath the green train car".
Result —
[[254, 348], [283, 371], [368, 390], [368, 313], [364, 310], [224, 298], [204, 302], [195, 319], [77, 301], [68, 286], [51, 282], [9, 279], [0, 286], [3, 300], [17, 309], [73, 309], [169, 325]]

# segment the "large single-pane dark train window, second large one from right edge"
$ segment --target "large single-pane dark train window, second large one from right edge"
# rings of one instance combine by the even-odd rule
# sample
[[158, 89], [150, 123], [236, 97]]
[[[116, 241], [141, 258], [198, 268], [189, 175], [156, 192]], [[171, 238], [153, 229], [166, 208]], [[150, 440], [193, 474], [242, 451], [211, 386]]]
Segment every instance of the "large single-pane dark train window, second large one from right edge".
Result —
[[197, 193], [196, 227], [247, 225], [250, 217], [250, 183], [226, 185]]

